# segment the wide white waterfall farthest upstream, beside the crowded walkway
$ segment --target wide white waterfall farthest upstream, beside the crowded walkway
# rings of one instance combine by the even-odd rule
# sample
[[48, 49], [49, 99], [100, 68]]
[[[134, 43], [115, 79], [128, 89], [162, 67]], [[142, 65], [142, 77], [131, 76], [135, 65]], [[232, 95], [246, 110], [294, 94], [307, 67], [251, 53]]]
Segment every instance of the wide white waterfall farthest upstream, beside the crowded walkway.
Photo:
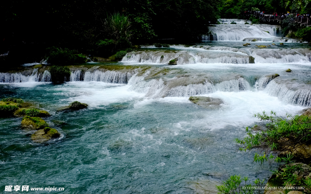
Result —
[[203, 35], [202, 40], [241, 41], [247, 37], [276, 37], [281, 26], [220, 24], [211, 26], [209, 29], [210, 34]]

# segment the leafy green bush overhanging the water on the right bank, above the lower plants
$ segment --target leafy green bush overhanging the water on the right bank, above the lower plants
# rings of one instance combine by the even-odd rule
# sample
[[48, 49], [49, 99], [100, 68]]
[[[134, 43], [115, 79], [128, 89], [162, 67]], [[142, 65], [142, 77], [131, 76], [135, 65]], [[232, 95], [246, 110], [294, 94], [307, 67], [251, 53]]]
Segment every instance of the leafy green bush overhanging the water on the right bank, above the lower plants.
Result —
[[263, 163], [268, 159], [281, 162], [280, 157], [276, 157], [281, 152], [287, 152], [295, 147], [308, 142], [311, 139], [311, 118], [308, 116], [292, 116], [287, 118], [275, 117], [275, 112], [271, 111], [267, 115], [255, 114], [261, 121], [266, 122], [262, 128], [258, 125], [251, 129], [246, 128], [247, 137], [236, 139], [236, 143], [241, 145], [240, 151], [259, 151], [254, 156], [254, 161]]

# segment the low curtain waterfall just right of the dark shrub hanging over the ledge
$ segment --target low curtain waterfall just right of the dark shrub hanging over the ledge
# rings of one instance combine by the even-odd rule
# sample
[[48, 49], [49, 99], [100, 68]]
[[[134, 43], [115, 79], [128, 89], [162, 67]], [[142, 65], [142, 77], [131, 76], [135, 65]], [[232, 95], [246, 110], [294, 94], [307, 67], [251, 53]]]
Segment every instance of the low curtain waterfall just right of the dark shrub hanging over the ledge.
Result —
[[[79, 73], [77, 72], [77, 75]], [[77, 75], [75, 75], [77, 77]], [[99, 81], [106, 83], [128, 83], [128, 80], [132, 77], [131, 73], [119, 72], [119, 71], [100, 71], [94, 72], [87, 71], [84, 75], [84, 81]]]

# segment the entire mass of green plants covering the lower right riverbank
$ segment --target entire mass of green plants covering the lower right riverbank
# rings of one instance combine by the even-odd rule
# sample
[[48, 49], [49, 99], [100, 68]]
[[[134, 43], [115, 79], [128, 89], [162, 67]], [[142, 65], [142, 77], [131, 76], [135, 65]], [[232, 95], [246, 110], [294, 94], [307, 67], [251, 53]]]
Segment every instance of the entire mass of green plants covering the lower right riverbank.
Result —
[[[308, 115], [292, 116], [288, 114], [285, 117], [277, 117], [273, 111], [270, 114], [263, 111], [262, 114], [255, 114], [254, 117], [261, 122], [252, 128], [247, 127], [245, 138], [236, 139], [238, 150], [255, 151], [253, 161], [256, 163], [263, 164], [265, 161], [274, 161], [281, 164], [280, 168], [275, 169], [272, 177], [266, 181], [267, 186], [304, 187], [299, 190], [310, 193], [311, 167], [307, 164], [310, 162], [309, 155], [311, 153], [307, 150], [309, 150], [311, 140], [311, 118]], [[247, 187], [258, 187], [258, 184], [265, 182], [264, 180], [256, 179], [249, 184], [246, 183], [247, 180], [247, 177], [241, 178], [238, 175], [233, 175], [222, 185], [217, 186], [218, 193], [229, 194], [242, 191], [253, 194], [263, 192], [248, 190]], [[287, 190], [285, 193], [289, 191]]]

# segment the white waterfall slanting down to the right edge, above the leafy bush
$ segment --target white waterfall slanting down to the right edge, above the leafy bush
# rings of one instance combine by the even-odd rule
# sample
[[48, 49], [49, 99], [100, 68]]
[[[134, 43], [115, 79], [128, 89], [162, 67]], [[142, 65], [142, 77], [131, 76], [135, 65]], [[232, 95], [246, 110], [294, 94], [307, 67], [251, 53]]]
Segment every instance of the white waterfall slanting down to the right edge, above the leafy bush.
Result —
[[297, 104], [300, 106], [311, 106], [311, 89], [310, 87], [299, 87], [300, 89], [292, 90], [285, 83], [278, 84], [274, 80], [268, 83], [265, 91], [271, 96], [276, 96], [287, 103]]

